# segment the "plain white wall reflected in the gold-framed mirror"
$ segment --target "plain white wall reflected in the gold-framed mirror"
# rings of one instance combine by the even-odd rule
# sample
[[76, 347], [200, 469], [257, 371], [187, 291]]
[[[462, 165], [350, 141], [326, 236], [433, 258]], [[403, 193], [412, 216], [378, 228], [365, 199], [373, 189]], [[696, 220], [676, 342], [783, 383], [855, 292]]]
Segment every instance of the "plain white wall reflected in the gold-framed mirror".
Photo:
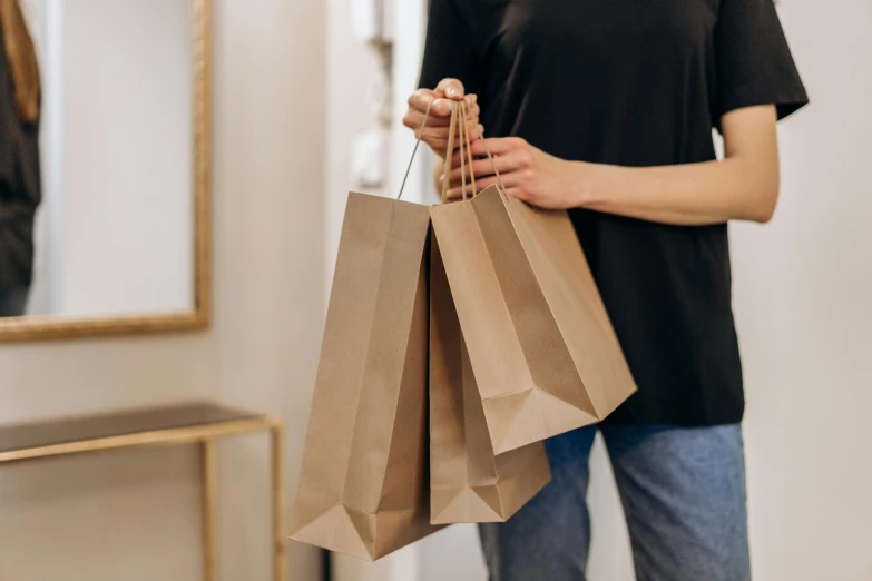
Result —
[[[65, 315], [193, 306], [190, 8], [75, 0], [63, 11]], [[52, 81], [47, 79], [49, 90]]]

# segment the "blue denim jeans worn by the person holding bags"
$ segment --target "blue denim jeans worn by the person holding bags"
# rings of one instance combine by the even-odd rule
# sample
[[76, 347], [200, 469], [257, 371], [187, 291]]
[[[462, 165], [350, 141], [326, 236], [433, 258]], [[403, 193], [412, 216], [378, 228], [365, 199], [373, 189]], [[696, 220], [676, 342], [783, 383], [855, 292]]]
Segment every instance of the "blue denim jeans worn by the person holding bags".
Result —
[[748, 581], [738, 424], [590, 426], [546, 443], [553, 480], [507, 523], [480, 525], [491, 581], [584, 581], [588, 456], [602, 432], [637, 581]]

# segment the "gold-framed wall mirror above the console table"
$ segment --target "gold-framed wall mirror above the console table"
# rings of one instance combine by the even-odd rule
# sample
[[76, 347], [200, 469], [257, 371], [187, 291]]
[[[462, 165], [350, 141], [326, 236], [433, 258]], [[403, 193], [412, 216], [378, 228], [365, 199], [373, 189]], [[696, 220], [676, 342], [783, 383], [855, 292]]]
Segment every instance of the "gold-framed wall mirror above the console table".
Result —
[[0, 6], [0, 341], [205, 327], [209, 0]]

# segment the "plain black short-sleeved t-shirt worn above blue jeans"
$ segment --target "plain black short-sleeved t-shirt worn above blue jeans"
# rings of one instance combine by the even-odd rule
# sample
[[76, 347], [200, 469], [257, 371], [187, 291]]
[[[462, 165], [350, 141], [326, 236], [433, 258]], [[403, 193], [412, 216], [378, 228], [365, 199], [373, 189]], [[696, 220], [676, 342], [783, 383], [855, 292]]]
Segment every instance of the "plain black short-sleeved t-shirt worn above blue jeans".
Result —
[[[491, 137], [637, 167], [715, 159], [725, 112], [807, 102], [772, 0], [431, 0], [421, 86], [445, 77]], [[570, 216], [639, 386], [608, 421], [741, 421], [726, 225]]]

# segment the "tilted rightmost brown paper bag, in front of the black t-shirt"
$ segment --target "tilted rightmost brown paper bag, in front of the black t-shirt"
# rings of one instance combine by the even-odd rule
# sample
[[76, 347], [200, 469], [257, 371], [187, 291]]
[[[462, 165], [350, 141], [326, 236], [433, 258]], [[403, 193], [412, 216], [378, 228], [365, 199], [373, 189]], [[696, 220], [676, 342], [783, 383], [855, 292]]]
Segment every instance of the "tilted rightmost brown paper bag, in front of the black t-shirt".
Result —
[[636, 391], [565, 211], [491, 186], [430, 216], [497, 454], [596, 423]]

